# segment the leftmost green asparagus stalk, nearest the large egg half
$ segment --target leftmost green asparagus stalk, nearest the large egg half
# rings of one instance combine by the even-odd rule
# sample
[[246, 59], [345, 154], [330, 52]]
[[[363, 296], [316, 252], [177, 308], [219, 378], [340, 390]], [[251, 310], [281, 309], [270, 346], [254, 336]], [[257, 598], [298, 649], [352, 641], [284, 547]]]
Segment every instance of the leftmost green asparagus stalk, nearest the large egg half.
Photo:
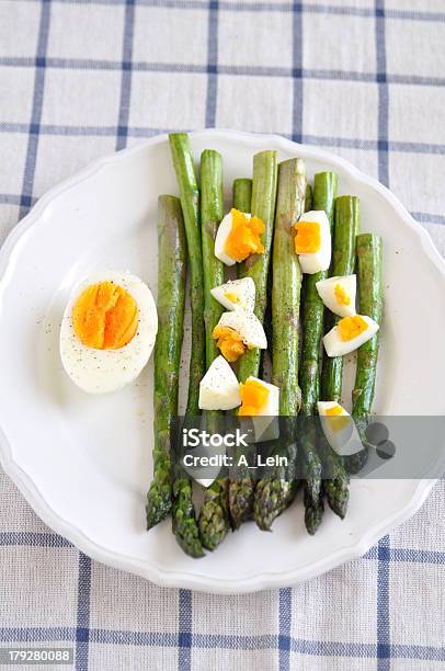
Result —
[[185, 236], [181, 204], [169, 195], [158, 202], [158, 319], [155, 345], [153, 480], [147, 494], [147, 527], [172, 507], [170, 428], [178, 414], [178, 388], [185, 300]]

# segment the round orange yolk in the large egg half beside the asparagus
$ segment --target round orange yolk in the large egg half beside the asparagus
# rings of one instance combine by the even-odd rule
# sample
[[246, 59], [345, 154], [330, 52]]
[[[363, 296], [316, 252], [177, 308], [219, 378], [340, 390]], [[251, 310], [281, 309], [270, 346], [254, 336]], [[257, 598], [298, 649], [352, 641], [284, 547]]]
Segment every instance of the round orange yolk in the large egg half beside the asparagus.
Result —
[[75, 333], [88, 348], [118, 350], [136, 336], [137, 312], [136, 300], [122, 286], [113, 282], [92, 284], [73, 307]]

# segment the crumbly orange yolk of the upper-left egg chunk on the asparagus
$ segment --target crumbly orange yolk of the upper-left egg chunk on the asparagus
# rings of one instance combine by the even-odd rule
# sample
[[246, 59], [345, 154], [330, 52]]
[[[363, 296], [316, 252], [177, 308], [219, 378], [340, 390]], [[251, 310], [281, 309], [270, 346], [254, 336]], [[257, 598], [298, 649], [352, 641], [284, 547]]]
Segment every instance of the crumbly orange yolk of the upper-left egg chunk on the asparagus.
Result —
[[246, 216], [243, 212], [232, 208], [231, 230], [227, 237], [224, 251], [230, 259], [240, 263], [250, 254], [263, 254], [264, 247], [260, 236], [264, 232], [264, 224], [259, 217]]

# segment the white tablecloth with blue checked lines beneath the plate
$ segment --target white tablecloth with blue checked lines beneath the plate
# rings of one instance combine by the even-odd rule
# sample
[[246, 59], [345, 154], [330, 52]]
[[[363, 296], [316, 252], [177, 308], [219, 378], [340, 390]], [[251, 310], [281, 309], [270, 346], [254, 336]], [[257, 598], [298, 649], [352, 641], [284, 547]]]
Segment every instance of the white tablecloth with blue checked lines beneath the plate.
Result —
[[[445, 253], [445, 0], [0, 0], [0, 242], [92, 159], [222, 126], [344, 156]], [[0, 501], [0, 645], [72, 646], [78, 671], [445, 669], [444, 481], [363, 559], [244, 596], [91, 561], [3, 474]]]

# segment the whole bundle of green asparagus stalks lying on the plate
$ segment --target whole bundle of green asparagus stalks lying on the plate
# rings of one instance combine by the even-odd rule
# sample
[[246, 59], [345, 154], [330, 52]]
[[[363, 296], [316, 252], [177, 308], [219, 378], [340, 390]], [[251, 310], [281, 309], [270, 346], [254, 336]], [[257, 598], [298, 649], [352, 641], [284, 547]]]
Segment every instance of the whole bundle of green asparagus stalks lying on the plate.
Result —
[[[276, 516], [295, 498], [298, 444], [305, 487], [305, 523], [308, 532], [313, 534], [323, 516], [324, 497], [339, 516], [345, 515], [347, 469], [360, 469], [366, 458], [365, 450], [365, 456], [340, 457], [327, 440], [317, 435], [311, 419], [317, 413], [320, 396], [340, 402], [343, 380], [341, 356], [326, 356], [320, 371], [324, 305], [317, 283], [329, 275], [352, 274], [357, 258], [360, 311], [379, 323], [383, 305], [381, 240], [372, 234], [357, 235], [358, 198], [336, 197], [335, 173], [317, 173], [312, 193], [301, 159], [289, 159], [277, 166], [275, 151], [262, 151], [254, 156], [252, 180], [235, 180], [233, 207], [239, 213], [251, 213], [264, 225], [261, 234], [264, 252], [251, 253], [238, 263], [238, 277], [254, 281], [254, 315], [262, 323], [269, 321], [266, 307], [271, 296], [267, 330], [272, 332], [272, 382], [279, 388], [279, 416], [292, 418], [299, 412], [303, 418], [308, 418], [308, 425], [297, 436], [294, 424], [283, 422], [284, 430], [273, 443], [273, 453], [287, 456], [286, 468], [269, 468], [256, 484], [246, 466], [235, 468], [230, 479], [217, 477], [205, 489], [199, 515], [196, 516], [191, 479], [185, 471], [172, 468], [171, 448], [173, 453], [174, 445], [171, 445], [171, 427], [178, 414], [186, 258], [193, 344], [185, 421], [201, 414], [199, 383], [219, 355], [213, 334], [222, 308], [210, 289], [225, 282], [224, 264], [215, 255], [215, 238], [224, 217], [222, 159], [215, 150], [203, 151], [199, 194], [187, 135], [172, 134], [170, 147], [180, 200], [167, 195], [159, 197], [159, 333], [155, 349], [153, 480], [147, 494], [148, 527], [172, 512], [176, 541], [192, 557], [202, 557], [204, 548], [214, 550], [226, 537], [230, 524], [238, 528], [252, 516], [261, 530], [269, 531]], [[312, 208], [324, 211], [328, 216], [333, 239], [332, 263], [330, 271], [303, 276], [299, 257], [295, 253], [294, 225], [304, 212]], [[305, 269], [305, 273], [310, 273], [310, 270]], [[300, 304], [303, 340], [299, 364]], [[335, 325], [339, 318], [327, 315], [327, 322], [328, 326]], [[365, 439], [374, 398], [377, 355], [378, 334], [357, 351], [353, 417], [362, 439]], [[255, 378], [260, 369], [261, 350], [258, 346], [248, 349], [238, 362], [238, 379], [244, 383], [250, 377]], [[232, 375], [230, 368], [228, 371]], [[207, 428], [220, 427], [218, 422], [224, 414], [220, 410], [204, 412]], [[326, 477], [323, 465], [328, 473]]]

